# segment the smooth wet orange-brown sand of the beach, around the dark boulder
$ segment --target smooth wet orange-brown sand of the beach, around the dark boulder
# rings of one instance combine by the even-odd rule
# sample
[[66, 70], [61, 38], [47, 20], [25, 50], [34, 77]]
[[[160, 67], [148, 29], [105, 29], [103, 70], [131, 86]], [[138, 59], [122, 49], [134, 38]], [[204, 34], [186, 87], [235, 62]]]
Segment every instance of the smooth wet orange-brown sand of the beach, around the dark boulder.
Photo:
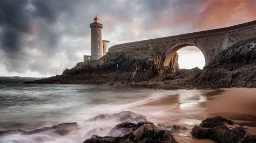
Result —
[[[228, 88], [204, 90], [177, 90], [134, 107], [155, 124], [165, 123], [189, 128], [208, 117], [223, 116], [247, 128], [247, 134], [256, 134], [256, 89]], [[198, 140], [189, 131], [174, 133], [179, 142], [214, 142]]]

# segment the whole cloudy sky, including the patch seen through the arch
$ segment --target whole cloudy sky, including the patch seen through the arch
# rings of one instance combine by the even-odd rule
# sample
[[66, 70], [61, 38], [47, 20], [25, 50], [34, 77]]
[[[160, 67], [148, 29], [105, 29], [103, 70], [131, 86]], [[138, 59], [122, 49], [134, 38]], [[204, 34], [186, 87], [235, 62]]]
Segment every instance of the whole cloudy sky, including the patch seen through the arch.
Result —
[[[74, 67], [90, 55], [96, 14], [110, 47], [250, 22], [255, 7], [255, 0], [1, 0], [0, 76], [48, 77]], [[193, 47], [178, 53], [181, 68], [200, 55]]]

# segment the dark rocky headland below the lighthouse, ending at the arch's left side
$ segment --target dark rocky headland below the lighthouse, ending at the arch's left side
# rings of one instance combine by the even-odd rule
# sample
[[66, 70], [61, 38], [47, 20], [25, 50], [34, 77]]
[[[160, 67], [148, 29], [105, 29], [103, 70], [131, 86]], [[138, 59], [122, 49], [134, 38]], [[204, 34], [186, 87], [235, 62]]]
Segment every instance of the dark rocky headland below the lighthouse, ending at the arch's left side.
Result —
[[104, 84], [117, 82], [148, 81], [179, 69], [178, 54], [173, 57], [170, 68], [164, 68], [164, 55], [148, 49], [135, 49], [122, 53], [108, 53], [98, 61], [79, 62], [62, 75], [28, 83], [53, 84]]

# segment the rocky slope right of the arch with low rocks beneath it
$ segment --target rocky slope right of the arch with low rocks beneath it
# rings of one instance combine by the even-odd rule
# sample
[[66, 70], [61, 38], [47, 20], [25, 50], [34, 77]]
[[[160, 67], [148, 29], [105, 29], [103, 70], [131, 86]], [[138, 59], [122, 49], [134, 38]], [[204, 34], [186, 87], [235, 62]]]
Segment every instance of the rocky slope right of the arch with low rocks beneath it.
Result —
[[181, 69], [132, 85], [147, 85], [158, 89], [256, 88], [255, 48], [256, 37], [242, 40], [217, 54], [203, 70]]

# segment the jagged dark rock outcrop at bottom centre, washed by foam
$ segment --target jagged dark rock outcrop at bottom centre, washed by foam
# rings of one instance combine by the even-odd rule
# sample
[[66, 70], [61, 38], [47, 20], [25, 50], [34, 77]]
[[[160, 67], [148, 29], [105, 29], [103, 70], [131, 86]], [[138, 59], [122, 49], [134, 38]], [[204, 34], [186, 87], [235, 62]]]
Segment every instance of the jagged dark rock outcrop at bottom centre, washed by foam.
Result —
[[169, 130], [161, 130], [149, 121], [121, 123], [112, 128], [108, 135], [115, 137], [99, 137], [92, 135], [85, 143], [91, 142], [177, 142]]

